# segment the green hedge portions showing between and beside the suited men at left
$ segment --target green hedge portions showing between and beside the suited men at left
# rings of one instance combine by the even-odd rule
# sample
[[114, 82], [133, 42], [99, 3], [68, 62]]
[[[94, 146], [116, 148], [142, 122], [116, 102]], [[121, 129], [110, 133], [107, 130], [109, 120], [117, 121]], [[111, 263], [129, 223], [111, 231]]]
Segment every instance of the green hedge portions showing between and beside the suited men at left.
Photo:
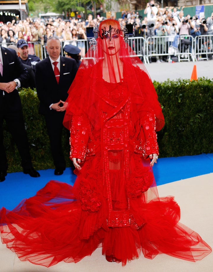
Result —
[[[23, 88], [20, 91], [20, 97], [33, 166], [36, 169], [54, 168], [45, 119], [38, 113], [39, 100], [36, 91], [31, 90], [30, 88]], [[9, 165], [8, 172], [22, 171], [21, 159], [17, 147], [12, 140], [11, 134], [9, 133], [5, 123], [4, 128], [4, 146], [6, 148]], [[62, 144], [67, 166], [69, 166], [71, 165], [69, 159], [69, 131], [65, 128], [62, 134]]]

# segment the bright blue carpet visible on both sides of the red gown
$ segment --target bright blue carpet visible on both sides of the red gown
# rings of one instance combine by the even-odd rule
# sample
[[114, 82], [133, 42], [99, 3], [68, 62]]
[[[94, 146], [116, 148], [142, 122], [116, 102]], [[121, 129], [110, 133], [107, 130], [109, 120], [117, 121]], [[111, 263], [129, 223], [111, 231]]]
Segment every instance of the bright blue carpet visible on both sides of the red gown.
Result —
[[[157, 185], [196, 177], [213, 172], [213, 153], [196, 156], [159, 158], [153, 167]], [[49, 180], [59, 180], [73, 185], [75, 175], [70, 168], [61, 176], [54, 175], [54, 169], [40, 170], [41, 177], [33, 178], [23, 172], [9, 173], [0, 183], [0, 207], [11, 210], [24, 198], [34, 196]]]

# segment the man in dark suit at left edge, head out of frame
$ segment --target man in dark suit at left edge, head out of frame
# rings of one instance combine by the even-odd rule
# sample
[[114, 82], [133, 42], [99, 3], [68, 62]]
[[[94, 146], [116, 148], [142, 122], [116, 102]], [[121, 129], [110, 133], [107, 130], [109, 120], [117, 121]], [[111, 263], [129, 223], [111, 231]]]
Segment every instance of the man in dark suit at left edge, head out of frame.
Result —
[[8, 168], [3, 144], [4, 119], [20, 153], [23, 172], [31, 177], [40, 177], [32, 166], [21, 100], [17, 90], [28, 79], [28, 72], [13, 49], [0, 46], [0, 59], [0, 181], [5, 180]]

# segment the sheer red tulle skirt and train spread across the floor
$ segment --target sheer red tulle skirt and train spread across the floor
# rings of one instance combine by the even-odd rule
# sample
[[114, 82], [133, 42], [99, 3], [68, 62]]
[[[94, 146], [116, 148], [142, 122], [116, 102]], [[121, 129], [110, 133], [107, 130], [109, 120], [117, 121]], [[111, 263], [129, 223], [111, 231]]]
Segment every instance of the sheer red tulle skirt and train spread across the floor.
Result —
[[[1, 240], [20, 260], [45, 266], [76, 263], [101, 245], [103, 254], [116, 257], [123, 265], [141, 251], [150, 259], [166, 253], [189, 261], [201, 260], [211, 252], [196, 232], [178, 223], [180, 208], [173, 197], [146, 202], [144, 194], [140, 205], [138, 198], [131, 205], [135, 220], [143, 222], [140, 229], [108, 228], [103, 199], [97, 211], [84, 211], [72, 186], [51, 180], [14, 210], [1, 209]], [[98, 192], [95, 203], [97, 198]]]

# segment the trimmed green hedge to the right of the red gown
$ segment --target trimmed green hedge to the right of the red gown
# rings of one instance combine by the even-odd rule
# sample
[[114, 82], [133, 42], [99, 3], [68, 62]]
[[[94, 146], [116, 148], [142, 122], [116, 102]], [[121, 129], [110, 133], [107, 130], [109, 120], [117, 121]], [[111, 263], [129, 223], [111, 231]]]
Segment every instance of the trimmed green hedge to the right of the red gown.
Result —
[[165, 118], [158, 132], [162, 157], [213, 152], [213, 84], [210, 79], [154, 82]]

